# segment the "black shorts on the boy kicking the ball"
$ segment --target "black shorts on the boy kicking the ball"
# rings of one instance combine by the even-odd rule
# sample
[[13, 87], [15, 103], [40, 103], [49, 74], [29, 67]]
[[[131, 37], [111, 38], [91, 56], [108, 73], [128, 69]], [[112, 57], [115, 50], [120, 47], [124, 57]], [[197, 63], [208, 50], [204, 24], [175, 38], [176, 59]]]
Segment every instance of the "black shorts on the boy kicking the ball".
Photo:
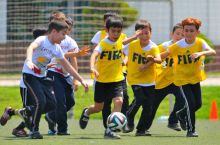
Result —
[[123, 96], [122, 81], [112, 83], [95, 82], [94, 101], [97, 103], [104, 102], [107, 98]]

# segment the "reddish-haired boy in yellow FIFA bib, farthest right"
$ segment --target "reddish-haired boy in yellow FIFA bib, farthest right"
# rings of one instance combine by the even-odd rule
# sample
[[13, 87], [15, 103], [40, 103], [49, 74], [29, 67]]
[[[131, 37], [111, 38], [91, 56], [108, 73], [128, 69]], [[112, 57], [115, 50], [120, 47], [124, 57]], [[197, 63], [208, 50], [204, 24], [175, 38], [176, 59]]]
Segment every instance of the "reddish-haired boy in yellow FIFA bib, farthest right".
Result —
[[206, 55], [215, 55], [216, 52], [208, 44], [196, 36], [199, 34], [201, 21], [195, 18], [186, 18], [182, 21], [184, 39], [168, 47], [161, 57], [168, 55], [173, 58], [174, 84], [179, 86], [185, 100], [183, 109], [177, 112], [181, 122], [186, 119], [187, 137], [198, 137], [195, 131], [195, 112], [202, 105], [200, 81], [205, 77], [201, 73], [202, 60]]

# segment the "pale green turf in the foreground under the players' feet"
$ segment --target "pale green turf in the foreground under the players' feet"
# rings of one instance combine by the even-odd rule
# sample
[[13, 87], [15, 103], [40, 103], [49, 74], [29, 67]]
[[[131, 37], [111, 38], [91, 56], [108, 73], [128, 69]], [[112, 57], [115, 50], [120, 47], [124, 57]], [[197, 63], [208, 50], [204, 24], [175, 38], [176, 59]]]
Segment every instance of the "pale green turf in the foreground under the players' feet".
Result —
[[78, 120], [69, 120], [70, 136], [48, 136], [47, 125], [44, 119], [41, 121], [41, 133], [43, 140], [31, 140], [28, 138], [16, 138], [11, 135], [11, 130], [20, 121], [13, 118], [4, 127], [0, 127], [0, 145], [219, 145], [220, 122], [208, 120], [197, 121], [196, 128], [198, 138], [185, 137], [186, 132], [176, 132], [166, 127], [167, 122], [155, 120], [151, 128], [151, 137], [135, 137], [134, 133], [120, 133], [120, 140], [103, 138], [101, 120], [90, 120], [88, 127], [81, 130]]

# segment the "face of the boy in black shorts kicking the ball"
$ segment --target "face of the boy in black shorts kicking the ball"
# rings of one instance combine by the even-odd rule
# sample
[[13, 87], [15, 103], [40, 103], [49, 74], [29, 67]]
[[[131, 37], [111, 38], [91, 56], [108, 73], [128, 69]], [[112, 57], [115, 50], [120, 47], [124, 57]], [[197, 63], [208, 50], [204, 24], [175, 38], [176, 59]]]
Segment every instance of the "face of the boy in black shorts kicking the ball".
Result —
[[122, 28], [119, 27], [110, 27], [107, 29], [109, 39], [113, 42], [117, 41], [121, 35]]

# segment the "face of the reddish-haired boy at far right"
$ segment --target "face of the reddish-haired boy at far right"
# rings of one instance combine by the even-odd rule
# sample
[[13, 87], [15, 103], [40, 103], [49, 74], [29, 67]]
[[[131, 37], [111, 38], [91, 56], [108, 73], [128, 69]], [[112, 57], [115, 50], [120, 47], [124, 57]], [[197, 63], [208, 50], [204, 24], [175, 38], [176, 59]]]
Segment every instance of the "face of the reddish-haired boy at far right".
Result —
[[187, 40], [192, 41], [199, 34], [199, 31], [196, 29], [195, 25], [185, 25], [183, 28], [183, 34]]

